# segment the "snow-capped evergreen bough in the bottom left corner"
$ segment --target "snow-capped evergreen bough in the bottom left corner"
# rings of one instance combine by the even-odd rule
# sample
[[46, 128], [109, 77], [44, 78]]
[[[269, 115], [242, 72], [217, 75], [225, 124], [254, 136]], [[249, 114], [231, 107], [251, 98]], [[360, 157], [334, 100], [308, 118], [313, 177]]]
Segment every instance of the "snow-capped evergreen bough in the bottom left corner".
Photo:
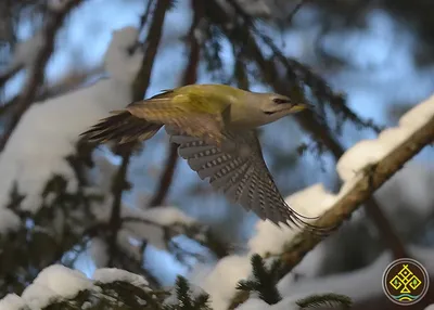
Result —
[[60, 264], [50, 266], [22, 296], [9, 294], [1, 299], [0, 309], [162, 309], [169, 295], [153, 292], [143, 276], [125, 270], [98, 269], [92, 277]]

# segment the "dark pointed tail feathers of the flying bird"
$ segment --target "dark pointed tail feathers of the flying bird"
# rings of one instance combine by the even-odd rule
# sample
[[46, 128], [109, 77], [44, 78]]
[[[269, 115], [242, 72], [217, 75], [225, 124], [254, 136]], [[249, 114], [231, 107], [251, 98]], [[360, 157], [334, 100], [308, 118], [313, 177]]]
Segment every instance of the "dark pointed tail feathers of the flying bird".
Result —
[[80, 135], [89, 142], [115, 141], [122, 144], [151, 139], [163, 126], [136, 117], [128, 111], [114, 111], [112, 114]]

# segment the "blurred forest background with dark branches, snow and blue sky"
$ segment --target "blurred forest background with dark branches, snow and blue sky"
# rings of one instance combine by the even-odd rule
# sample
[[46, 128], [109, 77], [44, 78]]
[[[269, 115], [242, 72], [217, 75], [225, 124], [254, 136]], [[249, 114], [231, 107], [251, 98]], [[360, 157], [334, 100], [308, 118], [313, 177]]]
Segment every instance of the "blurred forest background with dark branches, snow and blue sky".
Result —
[[[196, 82], [302, 87], [316, 113], [261, 128], [264, 155], [284, 196], [335, 192], [344, 152], [433, 93], [434, 2], [0, 1], [0, 298], [53, 263], [125, 269], [156, 289], [246, 251], [257, 218], [202, 182], [164, 131], [133, 147], [79, 141], [111, 109]], [[294, 281], [432, 247], [433, 158], [427, 147], [406, 165]], [[356, 301], [396, 307], [382, 293]]]

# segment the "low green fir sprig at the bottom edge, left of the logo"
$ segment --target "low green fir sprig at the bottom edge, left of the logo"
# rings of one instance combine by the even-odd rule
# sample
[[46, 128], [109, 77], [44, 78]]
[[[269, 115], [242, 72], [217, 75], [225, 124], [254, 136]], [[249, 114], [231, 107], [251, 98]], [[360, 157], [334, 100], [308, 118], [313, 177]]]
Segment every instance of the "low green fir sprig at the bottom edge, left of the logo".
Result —
[[315, 309], [315, 308], [335, 308], [335, 309], [350, 309], [353, 301], [349, 297], [339, 294], [322, 294], [312, 295], [304, 299], [297, 300], [296, 303], [302, 309]]

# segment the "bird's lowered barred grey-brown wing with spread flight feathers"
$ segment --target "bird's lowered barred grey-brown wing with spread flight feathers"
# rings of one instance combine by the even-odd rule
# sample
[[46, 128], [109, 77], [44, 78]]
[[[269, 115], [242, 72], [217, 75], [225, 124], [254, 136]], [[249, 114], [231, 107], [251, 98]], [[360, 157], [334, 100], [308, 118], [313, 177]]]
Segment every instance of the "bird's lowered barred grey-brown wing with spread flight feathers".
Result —
[[167, 126], [166, 131], [170, 140], [179, 144], [178, 154], [188, 160], [191, 169], [201, 179], [209, 178], [213, 188], [224, 192], [230, 201], [278, 225], [282, 222], [321, 231], [307, 223], [308, 218], [297, 214], [283, 199], [263, 158], [255, 130], [237, 134], [226, 132], [220, 147], [179, 134]]

